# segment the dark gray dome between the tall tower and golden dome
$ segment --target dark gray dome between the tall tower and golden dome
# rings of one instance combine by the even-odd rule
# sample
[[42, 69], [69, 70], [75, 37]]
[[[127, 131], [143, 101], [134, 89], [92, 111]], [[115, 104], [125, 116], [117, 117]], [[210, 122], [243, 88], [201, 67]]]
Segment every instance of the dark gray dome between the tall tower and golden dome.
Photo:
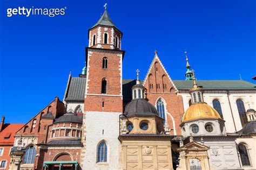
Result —
[[132, 116], [158, 116], [157, 109], [145, 99], [136, 99], [129, 102], [124, 110], [126, 117]]

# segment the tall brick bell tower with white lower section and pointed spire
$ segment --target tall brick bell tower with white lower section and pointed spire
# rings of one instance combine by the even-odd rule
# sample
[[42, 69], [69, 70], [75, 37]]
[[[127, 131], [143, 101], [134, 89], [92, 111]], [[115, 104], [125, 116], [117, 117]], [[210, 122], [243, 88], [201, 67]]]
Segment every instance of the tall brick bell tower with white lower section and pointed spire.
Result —
[[[83, 169], [118, 169], [119, 115], [123, 112], [122, 32], [106, 10], [88, 31]], [[100, 148], [99, 148], [100, 147]], [[103, 149], [104, 147], [104, 149]], [[104, 150], [104, 154], [101, 152]]]

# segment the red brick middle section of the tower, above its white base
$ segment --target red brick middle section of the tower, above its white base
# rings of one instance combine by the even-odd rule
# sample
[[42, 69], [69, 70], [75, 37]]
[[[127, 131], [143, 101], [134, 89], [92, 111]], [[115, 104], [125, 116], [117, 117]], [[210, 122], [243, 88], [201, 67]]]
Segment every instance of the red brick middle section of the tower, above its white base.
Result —
[[[118, 51], [88, 50], [85, 111], [122, 112], [122, 53]], [[108, 66], [102, 68], [103, 58]], [[107, 80], [107, 93], [102, 94], [102, 79]], [[104, 103], [103, 103], [104, 102]]]

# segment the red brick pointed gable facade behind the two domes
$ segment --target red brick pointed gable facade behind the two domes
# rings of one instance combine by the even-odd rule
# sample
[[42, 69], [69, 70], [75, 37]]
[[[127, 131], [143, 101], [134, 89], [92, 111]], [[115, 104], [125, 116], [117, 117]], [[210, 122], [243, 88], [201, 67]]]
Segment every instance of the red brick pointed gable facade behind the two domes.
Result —
[[179, 124], [184, 113], [183, 100], [177, 94], [176, 87], [174, 87], [170, 76], [157, 55], [149, 68], [144, 86], [146, 88], [146, 98], [151, 104], [156, 106], [159, 98], [164, 100], [167, 123], [170, 126], [171, 134], [181, 135]]

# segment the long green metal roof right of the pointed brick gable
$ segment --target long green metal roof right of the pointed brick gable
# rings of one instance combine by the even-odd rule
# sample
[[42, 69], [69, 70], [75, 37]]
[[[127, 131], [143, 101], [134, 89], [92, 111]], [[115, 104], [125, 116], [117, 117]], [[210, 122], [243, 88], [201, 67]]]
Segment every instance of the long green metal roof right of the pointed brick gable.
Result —
[[[188, 90], [193, 86], [192, 80], [173, 80], [179, 90]], [[256, 90], [256, 84], [244, 80], [197, 80], [204, 90]]]

